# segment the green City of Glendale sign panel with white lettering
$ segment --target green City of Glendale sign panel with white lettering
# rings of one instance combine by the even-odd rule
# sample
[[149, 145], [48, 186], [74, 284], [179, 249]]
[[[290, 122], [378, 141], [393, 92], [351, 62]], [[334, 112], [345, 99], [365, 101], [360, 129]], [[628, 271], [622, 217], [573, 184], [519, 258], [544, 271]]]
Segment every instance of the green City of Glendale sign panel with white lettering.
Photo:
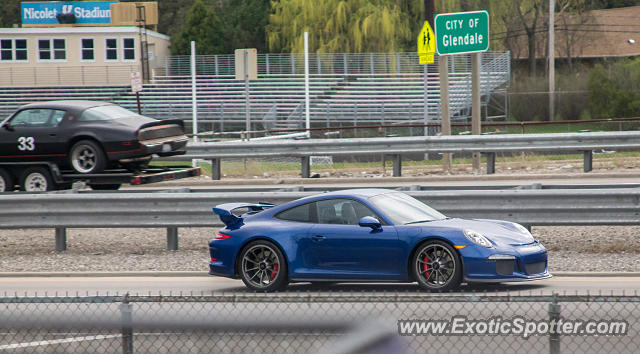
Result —
[[436, 15], [438, 55], [484, 52], [489, 49], [489, 13], [458, 12]]

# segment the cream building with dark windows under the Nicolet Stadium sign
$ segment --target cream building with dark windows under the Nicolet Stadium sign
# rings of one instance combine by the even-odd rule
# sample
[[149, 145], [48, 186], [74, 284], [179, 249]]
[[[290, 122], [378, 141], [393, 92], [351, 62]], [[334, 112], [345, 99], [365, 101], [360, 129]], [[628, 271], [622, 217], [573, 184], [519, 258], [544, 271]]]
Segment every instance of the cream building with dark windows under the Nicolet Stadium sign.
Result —
[[[23, 17], [29, 14], [25, 4]], [[155, 31], [146, 30], [144, 36], [139, 27], [99, 24], [0, 28], [0, 86], [126, 85], [131, 72], [144, 71], [143, 41], [153, 77], [154, 69], [164, 66], [170, 45], [168, 36]]]

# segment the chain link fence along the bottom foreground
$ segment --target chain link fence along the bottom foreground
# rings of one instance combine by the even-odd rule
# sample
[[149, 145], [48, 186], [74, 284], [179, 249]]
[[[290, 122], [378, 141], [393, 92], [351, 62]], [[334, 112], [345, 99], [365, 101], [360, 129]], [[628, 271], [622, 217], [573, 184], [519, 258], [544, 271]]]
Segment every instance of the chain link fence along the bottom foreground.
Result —
[[5, 296], [0, 352], [629, 353], [638, 318], [637, 294]]

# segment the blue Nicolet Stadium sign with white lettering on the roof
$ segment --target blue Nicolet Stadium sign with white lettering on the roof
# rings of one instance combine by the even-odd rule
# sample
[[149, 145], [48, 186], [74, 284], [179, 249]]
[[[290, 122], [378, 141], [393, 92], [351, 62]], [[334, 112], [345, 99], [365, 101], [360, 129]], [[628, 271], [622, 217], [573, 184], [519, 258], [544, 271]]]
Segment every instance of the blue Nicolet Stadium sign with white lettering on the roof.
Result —
[[108, 25], [111, 23], [111, 4], [115, 3], [117, 1], [23, 2], [20, 4], [22, 25]]

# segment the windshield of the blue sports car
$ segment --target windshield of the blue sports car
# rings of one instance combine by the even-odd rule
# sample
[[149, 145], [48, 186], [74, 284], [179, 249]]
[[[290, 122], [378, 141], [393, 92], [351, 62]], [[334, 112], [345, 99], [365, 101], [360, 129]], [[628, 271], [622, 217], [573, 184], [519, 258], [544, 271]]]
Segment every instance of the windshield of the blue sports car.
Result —
[[447, 217], [404, 193], [386, 193], [369, 198], [396, 225], [443, 220]]

